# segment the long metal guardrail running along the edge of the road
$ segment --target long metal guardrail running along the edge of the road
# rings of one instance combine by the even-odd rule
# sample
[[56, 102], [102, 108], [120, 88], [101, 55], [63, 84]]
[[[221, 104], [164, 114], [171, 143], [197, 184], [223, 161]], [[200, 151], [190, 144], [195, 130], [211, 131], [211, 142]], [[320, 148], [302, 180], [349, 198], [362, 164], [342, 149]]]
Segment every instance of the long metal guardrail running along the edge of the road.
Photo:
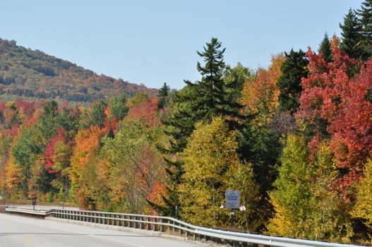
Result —
[[167, 232], [186, 236], [193, 240], [205, 239], [215, 243], [229, 243], [231, 246], [279, 246], [279, 247], [355, 247], [341, 243], [326, 243], [304, 239], [290, 239], [279, 236], [265, 236], [259, 234], [244, 234], [234, 231], [222, 231], [206, 227], [197, 227], [172, 217], [155, 215], [133, 215], [116, 212], [98, 212], [85, 210], [58, 210], [32, 211], [15, 208], [6, 208], [7, 213], [20, 215], [35, 215], [40, 217], [54, 217], [71, 219], [80, 222], [108, 224], [119, 227], [132, 227], [149, 231]]

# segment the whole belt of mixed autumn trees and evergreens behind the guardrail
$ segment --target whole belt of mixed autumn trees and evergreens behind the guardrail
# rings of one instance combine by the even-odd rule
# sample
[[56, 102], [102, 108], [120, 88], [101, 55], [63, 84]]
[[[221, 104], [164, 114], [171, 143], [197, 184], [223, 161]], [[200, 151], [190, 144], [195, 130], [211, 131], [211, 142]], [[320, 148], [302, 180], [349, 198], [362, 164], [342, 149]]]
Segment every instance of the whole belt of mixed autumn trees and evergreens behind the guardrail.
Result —
[[370, 244], [371, 16], [366, 0], [341, 37], [268, 68], [225, 64], [213, 37], [178, 91], [1, 101], [0, 193], [228, 228], [224, 192], [239, 190], [240, 231]]

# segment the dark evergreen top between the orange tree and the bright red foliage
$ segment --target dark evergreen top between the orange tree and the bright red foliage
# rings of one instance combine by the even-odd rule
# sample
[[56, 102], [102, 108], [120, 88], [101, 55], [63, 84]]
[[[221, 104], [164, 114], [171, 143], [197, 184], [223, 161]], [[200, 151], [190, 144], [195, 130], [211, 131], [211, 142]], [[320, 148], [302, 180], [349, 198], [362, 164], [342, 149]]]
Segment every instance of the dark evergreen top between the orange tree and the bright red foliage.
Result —
[[292, 114], [299, 107], [299, 97], [301, 95], [301, 78], [308, 75], [308, 60], [305, 53], [299, 50], [294, 52], [291, 49], [289, 54], [284, 52], [285, 60], [280, 67], [282, 75], [277, 80], [280, 90], [279, 103], [282, 112], [289, 111]]

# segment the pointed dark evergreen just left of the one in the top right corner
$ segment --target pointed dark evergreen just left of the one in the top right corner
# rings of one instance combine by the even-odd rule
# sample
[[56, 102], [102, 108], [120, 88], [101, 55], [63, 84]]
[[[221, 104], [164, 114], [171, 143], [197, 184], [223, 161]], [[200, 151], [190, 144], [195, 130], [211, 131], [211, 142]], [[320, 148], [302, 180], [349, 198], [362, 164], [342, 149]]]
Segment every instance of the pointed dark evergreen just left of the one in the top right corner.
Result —
[[361, 25], [358, 18], [356, 18], [355, 11], [352, 8], [344, 17], [344, 24], [340, 23], [342, 41], [340, 49], [346, 52], [350, 57], [359, 59], [361, 56], [360, 44], [361, 42]]

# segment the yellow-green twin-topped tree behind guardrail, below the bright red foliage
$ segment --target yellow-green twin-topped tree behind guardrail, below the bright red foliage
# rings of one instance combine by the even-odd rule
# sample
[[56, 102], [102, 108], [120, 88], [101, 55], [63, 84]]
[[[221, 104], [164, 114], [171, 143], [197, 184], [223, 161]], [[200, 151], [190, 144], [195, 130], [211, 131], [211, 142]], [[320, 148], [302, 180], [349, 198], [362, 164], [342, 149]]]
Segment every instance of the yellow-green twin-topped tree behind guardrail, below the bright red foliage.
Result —
[[352, 226], [349, 204], [332, 190], [337, 176], [330, 143], [317, 150], [316, 162], [308, 162], [304, 137], [287, 137], [282, 167], [270, 192], [275, 216], [268, 222], [273, 235], [299, 239], [349, 243]]

